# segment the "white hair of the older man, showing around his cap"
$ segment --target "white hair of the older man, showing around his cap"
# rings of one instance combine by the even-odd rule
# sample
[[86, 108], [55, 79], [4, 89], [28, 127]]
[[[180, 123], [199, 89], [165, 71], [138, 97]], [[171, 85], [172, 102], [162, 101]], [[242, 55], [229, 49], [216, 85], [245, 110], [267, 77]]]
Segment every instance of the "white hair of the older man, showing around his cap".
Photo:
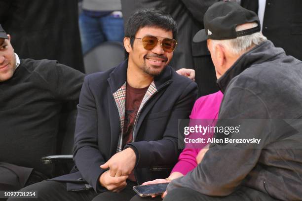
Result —
[[[249, 28], [247, 28], [247, 26]], [[246, 29], [251, 29], [254, 27], [257, 27], [258, 24], [256, 22], [238, 25], [236, 27], [236, 31], [242, 31]], [[237, 37], [235, 39], [228, 39], [228, 40], [213, 40], [213, 47], [217, 44], [220, 44], [224, 46], [227, 51], [235, 54], [235, 55], [241, 55], [245, 52], [247, 52], [251, 47], [258, 45], [262, 42], [264, 42], [266, 39], [265, 36], [262, 35], [261, 32], [256, 32], [251, 35]]]

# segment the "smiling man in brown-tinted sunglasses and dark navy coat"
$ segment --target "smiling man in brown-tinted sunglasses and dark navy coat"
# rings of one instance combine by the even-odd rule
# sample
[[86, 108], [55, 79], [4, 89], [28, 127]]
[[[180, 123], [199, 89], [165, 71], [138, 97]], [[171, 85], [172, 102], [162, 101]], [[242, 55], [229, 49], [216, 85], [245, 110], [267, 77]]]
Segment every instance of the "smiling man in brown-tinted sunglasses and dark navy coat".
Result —
[[178, 120], [189, 118], [197, 97], [196, 83], [168, 66], [176, 35], [175, 21], [161, 10], [143, 9], [129, 18], [128, 59], [84, 80], [76, 166], [21, 191], [36, 190], [39, 200], [128, 201], [134, 185], [168, 176], [154, 170], [177, 162]]

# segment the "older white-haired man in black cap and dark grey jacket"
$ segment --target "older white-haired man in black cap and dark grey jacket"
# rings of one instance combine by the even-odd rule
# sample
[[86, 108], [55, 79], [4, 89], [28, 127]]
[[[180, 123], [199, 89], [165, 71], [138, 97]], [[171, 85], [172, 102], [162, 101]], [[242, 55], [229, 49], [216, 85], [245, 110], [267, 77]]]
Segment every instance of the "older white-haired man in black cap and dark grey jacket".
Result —
[[235, 2], [213, 4], [204, 25], [193, 41], [207, 40], [224, 92], [217, 125], [241, 122], [239, 134], [223, 139], [261, 143], [212, 143], [195, 169], [171, 181], [164, 201], [301, 200], [302, 62], [267, 40], [256, 13]]

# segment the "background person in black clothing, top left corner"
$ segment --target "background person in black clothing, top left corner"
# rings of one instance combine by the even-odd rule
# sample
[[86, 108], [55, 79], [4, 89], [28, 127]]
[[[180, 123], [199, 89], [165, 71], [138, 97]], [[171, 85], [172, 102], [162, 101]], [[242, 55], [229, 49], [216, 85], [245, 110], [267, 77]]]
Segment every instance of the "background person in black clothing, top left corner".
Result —
[[77, 12], [77, 0], [0, 0], [0, 24], [21, 58], [84, 72]]

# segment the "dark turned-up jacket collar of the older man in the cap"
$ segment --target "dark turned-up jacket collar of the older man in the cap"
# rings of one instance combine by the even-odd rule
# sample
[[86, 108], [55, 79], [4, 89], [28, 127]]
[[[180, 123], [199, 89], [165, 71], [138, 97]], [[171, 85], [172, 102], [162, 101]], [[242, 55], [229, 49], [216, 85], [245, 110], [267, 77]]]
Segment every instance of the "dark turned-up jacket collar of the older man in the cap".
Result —
[[285, 53], [282, 48], [277, 48], [270, 41], [264, 41], [241, 55], [237, 61], [217, 80], [217, 86], [224, 93], [227, 85], [234, 77], [238, 76], [253, 64], [261, 64], [279, 54]]

